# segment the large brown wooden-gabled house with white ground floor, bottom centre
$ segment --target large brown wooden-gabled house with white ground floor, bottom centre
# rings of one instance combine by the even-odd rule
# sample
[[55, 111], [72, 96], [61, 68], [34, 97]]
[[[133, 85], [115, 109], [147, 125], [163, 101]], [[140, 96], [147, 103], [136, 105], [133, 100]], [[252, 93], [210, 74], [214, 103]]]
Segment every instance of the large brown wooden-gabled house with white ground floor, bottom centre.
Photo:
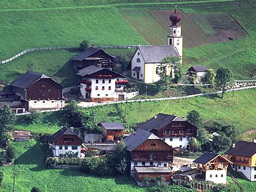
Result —
[[[131, 176], [135, 176], [137, 166], [172, 168], [175, 150], [155, 134], [138, 129], [126, 137], [123, 142], [126, 144]], [[158, 173], [161, 174], [161, 171], [159, 170]]]

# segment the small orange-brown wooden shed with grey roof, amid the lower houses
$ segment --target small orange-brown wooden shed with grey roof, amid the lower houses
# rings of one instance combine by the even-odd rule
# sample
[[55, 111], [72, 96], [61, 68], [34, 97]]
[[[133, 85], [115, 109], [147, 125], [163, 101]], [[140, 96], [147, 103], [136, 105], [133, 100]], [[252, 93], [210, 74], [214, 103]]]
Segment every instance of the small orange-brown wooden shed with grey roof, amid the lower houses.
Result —
[[105, 141], [113, 140], [117, 142], [122, 139], [125, 127], [121, 123], [101, 122], [99, 126], [102, 127], [102, 135], [105, 137]]

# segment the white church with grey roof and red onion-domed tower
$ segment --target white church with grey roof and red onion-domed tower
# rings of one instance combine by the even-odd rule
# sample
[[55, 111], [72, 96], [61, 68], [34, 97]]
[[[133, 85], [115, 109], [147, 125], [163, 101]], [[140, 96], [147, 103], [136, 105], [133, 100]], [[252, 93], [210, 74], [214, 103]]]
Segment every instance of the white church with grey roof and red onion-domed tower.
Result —
[[[141, 80], [144, 83], [155, 83], [160, 80], [157, 74], [157, 66], [161, 65], [163, 58], [167, 56], [176, 56], [182, 63], [183, 37], [182, 27], [179, 22], [182, 16], [177, 12], [170, 15], [170, 26], [167, 45], [139, 46], [130, 61], [130, 76]], [[173, 77], [173, 69], [166, 66], [166, 73]]]

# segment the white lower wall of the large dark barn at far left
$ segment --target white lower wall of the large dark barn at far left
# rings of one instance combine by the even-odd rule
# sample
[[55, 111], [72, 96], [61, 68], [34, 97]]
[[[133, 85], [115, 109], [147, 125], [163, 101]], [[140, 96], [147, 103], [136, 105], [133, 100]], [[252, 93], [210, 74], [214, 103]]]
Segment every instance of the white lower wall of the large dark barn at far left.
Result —
[[30, 100], [29, 109], [60, 109], [65, 106], [64, 100]]

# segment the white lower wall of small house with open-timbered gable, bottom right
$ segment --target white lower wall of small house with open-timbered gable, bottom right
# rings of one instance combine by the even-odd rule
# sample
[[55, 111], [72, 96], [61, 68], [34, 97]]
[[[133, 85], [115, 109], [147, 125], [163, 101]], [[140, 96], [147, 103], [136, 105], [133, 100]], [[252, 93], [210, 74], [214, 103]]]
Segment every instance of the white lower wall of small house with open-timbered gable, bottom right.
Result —
[[227, 171], [226, 170], [207, 170], [205, 172], [205, 180], [214, 183], [226, 183]]

